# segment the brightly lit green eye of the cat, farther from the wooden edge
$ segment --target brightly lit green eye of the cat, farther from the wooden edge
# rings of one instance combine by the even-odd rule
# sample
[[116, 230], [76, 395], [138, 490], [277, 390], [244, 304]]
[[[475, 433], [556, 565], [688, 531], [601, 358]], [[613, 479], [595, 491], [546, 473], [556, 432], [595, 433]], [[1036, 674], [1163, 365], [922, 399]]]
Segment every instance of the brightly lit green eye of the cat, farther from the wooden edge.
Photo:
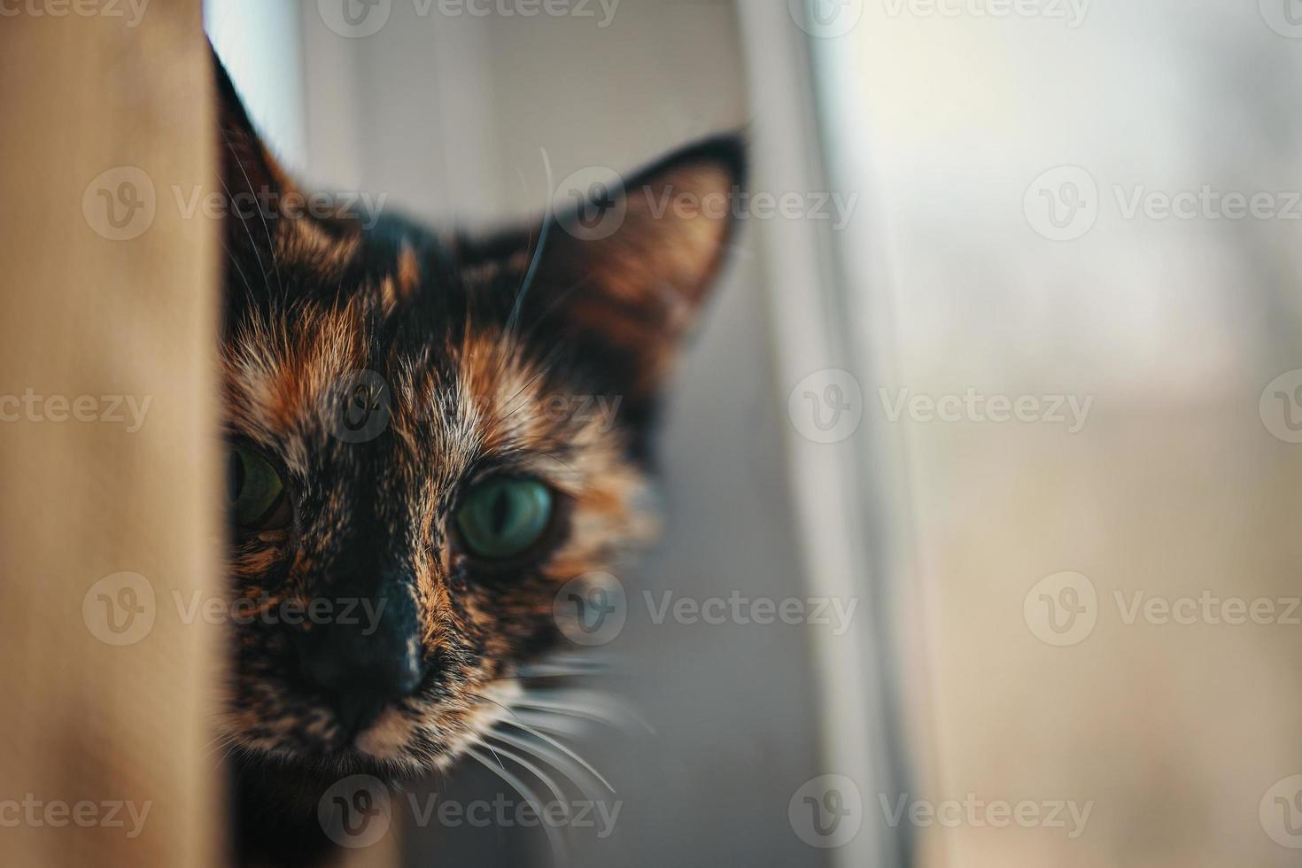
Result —
[[536, 479], [479, 483], [457, 510], [457, 531], [471, 554], [503, 561], [527, 552], [552, 523], [552, 489]]

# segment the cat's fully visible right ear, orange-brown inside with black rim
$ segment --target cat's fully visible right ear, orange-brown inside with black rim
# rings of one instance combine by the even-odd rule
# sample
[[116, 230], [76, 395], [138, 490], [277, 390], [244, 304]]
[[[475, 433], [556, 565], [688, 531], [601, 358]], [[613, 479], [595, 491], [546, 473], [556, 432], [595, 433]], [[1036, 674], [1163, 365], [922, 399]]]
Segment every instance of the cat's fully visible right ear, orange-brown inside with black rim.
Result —
[[630, 409], [654, 405], [710, 294], [745, 182], [745, 143], [723, 135], [572, 193], [552, 220], [530, 308], [590, 353]]

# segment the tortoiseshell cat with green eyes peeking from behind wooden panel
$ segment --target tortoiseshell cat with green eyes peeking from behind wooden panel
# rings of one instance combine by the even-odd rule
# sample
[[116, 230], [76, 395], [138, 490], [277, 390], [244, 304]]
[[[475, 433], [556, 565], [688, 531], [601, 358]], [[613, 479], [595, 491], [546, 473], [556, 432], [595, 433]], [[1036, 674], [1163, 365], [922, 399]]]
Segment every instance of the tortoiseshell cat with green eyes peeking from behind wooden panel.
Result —
[[568, 647], [559, 590], [654, 536], [658, 407], [746, 154], [719, 135], [600, 202], [439, 234], [305, 199], [214, 60], [232, 850], [309, 865], [342, 777], [518, 744], [522, 668]]

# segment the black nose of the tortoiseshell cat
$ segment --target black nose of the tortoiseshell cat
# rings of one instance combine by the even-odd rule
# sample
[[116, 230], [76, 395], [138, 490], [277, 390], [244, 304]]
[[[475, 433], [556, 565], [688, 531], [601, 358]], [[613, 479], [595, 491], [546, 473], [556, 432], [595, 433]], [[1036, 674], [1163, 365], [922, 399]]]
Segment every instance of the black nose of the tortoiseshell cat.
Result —
[[352, 738], [421, 686], [424, 655], [415, 603], [398, 586], [370, 597], [331, 600], [319, 610], [333, 614], [297, 635], [299, 665]]

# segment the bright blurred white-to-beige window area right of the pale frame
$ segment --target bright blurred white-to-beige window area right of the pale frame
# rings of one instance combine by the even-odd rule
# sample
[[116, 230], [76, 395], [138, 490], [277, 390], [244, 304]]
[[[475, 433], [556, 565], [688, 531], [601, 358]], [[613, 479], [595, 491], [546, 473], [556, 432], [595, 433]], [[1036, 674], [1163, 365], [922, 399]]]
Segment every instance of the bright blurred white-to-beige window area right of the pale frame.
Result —
[[[1302, 376], [1302, 29], [846, 5], [815, 42], [833, 183], [870, 203], [841, 250], [917, 769], [870, 809], [958, 804], [921, 865], [1298, 864], [1302, 446], [1266, 410]], [[995, 802], [1090, 815], [967, 812]]]

